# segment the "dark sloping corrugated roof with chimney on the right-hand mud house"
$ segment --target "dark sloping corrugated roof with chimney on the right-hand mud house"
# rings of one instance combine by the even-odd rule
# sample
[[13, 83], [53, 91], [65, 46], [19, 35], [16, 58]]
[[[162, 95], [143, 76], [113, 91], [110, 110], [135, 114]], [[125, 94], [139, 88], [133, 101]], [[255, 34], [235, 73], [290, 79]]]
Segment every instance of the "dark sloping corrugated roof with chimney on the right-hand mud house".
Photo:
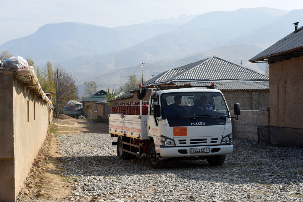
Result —
[[[301, 30], [300, 30], [301, 29]], [[303, 26], [298, 29], [297, 32], [291, 32], [289, 35], [285, 36], [283, 39], [271, 45], [269, 48], [265, 49], [255, 57], [251, 58], [249, 61], [257, 61], [258, 59], [263, 59], [268, 56], [276, 55], [283, 52], [288, 52], [303, 47]]]

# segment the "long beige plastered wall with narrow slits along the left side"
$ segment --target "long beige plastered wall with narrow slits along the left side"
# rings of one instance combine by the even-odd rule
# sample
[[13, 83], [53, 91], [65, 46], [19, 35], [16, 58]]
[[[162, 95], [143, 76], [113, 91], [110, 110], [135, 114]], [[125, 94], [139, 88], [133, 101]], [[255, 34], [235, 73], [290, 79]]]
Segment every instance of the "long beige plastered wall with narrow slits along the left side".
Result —
[[0, 100], [0, 201], [15, 201], [45, 140], [49, 106], [13, 75], [0, 74]]

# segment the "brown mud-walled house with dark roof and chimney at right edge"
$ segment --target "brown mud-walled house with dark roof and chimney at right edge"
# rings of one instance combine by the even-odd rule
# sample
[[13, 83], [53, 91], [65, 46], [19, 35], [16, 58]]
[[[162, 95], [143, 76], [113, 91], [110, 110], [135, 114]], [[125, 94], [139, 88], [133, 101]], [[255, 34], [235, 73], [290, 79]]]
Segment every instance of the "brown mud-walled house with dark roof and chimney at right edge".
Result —
[[269, 64], [270, 126], [264, 141], [303, 147], [303, 26], [294, 25], [293, 32], [249, 61]]

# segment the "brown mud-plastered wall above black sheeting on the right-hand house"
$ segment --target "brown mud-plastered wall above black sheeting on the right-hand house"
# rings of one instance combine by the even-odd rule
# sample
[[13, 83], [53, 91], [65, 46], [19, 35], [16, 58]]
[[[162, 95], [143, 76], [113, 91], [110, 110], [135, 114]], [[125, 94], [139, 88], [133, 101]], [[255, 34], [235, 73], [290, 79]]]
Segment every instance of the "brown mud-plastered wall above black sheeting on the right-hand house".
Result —
[[303, 56], [269, 65], [272, 126], [303, 128]]

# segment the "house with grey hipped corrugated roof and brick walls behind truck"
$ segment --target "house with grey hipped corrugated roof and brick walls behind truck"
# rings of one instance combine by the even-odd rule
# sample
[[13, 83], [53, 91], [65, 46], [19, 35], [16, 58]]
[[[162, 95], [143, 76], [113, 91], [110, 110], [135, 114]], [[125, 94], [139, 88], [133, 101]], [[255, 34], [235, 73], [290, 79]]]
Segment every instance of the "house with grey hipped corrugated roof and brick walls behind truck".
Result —
[[[215, 56], [169, 69], [146, 81], [144, 86], [188, 83], [192, 86], [210, 86], [212, 82], [215, 82], [216, 89], [224, 94], [229, 109], [234, 108], [234, 103], [240, 103], [242, 110], [258, 110], [260, 106], [269, 106], [268, 76]], [[139, 101], [136, 97], [137, 91], [138, 86], [134, 91], [115, 99], [111, 106], [117, 102]], [[151, 90], [148, 90], [143, 101], [149, 101], [150, 94]]]

